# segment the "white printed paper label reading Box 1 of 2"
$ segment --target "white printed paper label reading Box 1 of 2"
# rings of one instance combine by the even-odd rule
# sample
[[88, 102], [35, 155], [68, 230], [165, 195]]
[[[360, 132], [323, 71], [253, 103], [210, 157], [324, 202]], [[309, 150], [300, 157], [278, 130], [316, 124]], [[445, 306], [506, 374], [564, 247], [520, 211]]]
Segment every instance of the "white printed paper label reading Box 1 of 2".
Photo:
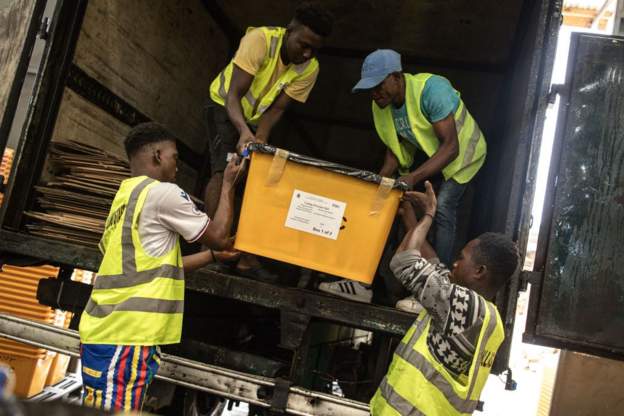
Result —
[[284, 225], [336, 240], [346, 207], [344, 202], [295, 189]]

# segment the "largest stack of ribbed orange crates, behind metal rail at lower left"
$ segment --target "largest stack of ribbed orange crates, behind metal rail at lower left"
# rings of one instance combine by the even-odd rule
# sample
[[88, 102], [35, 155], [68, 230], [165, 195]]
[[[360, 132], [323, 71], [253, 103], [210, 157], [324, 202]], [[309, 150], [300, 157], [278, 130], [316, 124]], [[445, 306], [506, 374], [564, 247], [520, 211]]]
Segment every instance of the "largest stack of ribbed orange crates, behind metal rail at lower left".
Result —
[[[52, 266], [15, 267], [4, 265], [0, 271], [0, 312], [52, 324], [56, 312], [37, 302], [39, 280], [56, 277]], [[45, 386], [56, 353], [0, 338], [0, 362], [15, 372], [15, 394], [30, 397]]]

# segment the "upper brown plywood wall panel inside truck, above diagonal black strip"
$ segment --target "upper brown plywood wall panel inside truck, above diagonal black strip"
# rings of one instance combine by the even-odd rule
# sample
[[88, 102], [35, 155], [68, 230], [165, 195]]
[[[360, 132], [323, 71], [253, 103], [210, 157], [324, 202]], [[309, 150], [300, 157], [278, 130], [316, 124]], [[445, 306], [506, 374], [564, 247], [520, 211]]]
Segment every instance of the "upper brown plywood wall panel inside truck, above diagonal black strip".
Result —
[[74, 62], [203, 153], [202, 106], [226, 48], [200, 0], [93, 0]]

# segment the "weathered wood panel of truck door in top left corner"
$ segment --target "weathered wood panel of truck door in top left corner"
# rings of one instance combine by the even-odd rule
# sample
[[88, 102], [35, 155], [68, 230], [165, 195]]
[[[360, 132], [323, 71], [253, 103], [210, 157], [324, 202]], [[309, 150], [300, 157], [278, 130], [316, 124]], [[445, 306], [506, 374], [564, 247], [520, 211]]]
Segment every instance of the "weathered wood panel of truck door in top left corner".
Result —
[[35, 0], [0, 2], [0, 124], [20, 62]]

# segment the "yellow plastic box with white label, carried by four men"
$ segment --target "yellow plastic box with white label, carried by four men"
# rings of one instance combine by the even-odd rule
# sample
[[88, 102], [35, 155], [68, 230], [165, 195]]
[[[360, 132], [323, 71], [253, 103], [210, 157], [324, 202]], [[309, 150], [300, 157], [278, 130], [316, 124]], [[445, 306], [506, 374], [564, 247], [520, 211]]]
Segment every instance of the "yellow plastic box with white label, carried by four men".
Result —
[[254, 145], [234, 247], [372, 282], [402, 191], [384, 180], [384, 193], [373, 174], [284, 156]]

